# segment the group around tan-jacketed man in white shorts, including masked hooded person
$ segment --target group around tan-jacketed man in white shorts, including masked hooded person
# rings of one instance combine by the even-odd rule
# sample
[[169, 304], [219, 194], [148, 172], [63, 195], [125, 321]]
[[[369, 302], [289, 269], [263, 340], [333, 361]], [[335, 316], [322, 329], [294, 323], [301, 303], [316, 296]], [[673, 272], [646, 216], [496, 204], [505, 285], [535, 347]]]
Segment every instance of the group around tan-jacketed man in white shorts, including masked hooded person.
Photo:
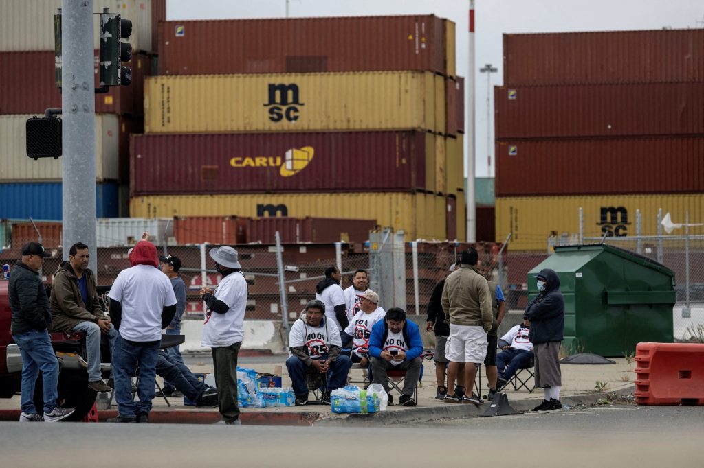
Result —
[[[467, 249], [432, 292], [426, 330], [436, 335], [436, 400], [480, 405], [482, 398], [465, 389], [465, 382], [472, 388], [480, 363], [486, 368], [489, 399], [493, 399], [518, 370], [534, 360], [535, 386], [543, 389], [544, 398], [533, 410], [562, 408], [558, 353], [565, 306], [557, 273], [546, 268], [536, 275], [539, 294], [525, 309], [523, 323], [498, 339], [505, 299], [501, 287], [484, 278], [480, 268], [477, 250]], [[502, 351], [497, 356], [499, 347]]]

